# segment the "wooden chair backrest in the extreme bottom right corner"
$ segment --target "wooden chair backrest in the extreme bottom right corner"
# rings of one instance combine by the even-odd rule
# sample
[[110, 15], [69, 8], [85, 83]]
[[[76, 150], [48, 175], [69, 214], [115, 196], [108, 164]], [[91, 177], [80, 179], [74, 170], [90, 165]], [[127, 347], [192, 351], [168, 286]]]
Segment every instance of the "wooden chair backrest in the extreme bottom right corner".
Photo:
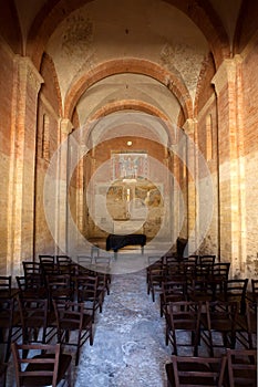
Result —
[[227, 348], [229, 386], [257, 387], [257, 349]]

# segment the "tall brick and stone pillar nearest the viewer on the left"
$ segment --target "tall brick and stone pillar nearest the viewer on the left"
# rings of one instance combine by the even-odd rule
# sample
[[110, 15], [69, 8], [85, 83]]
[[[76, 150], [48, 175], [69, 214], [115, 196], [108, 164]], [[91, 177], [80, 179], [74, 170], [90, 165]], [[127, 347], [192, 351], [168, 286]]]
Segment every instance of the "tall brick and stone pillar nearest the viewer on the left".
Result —
[[29, 57], [14, 57], [12, 154], [8, 209], [8, 272], [21, 273], [21, 261], [33, 260], [34, 163], [38, 94], [43, 83]]

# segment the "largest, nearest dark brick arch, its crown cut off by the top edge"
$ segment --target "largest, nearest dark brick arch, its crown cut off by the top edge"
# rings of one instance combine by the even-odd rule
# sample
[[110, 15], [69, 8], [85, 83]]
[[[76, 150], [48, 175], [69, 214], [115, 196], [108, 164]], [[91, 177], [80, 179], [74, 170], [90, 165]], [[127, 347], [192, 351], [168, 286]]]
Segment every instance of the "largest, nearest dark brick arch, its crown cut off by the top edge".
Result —
[[[61, 23], [71, 12], [83, 7], [92, 0], [52, 0], [47, 2], [30, 29], [27, 55], [30, 56], [39, 70], [42, 54], [45, 50], [49, 36], [56, 25]], [[216, 67], [220, 65], [224, 57], [230, 54], [228, 36], [225, 29], [207, 0], [164, 0], [184, 12], [204, 33], [213, 52]]]

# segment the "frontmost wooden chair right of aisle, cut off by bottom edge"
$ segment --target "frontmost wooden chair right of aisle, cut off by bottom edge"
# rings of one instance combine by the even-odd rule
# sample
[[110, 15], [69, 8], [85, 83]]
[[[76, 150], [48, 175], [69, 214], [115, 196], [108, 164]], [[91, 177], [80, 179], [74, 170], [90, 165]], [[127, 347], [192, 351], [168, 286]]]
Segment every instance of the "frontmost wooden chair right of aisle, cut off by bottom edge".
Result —
[[166, 364], [167, 387], [221, 387], [226, 356], [193, 357], [172, 356], [172, 363]]

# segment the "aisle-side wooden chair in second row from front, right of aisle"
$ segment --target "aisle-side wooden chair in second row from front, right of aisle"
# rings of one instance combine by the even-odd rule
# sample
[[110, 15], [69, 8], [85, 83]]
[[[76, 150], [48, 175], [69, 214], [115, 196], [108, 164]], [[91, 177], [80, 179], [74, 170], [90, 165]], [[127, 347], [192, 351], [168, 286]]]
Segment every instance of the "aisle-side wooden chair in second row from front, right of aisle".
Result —
[[[176, 301], [168, 304], [166, 318], [166, 345], [173, 346], [173, 354], [178, 355], [178, 347], [193, 348], [194, 356], [198, 355], [199, 345], [200, 303]], [[186, 334], [190, 336], [187, 342]], [[179, 337], [182, 334], [182, 337]]]

